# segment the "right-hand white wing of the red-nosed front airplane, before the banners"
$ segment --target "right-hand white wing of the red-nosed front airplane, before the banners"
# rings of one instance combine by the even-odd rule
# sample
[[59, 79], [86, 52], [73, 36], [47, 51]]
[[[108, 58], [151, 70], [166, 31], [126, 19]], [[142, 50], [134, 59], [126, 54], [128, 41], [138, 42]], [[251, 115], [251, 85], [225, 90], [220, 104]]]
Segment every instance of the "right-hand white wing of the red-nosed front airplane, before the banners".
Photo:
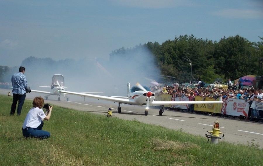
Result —
[[[221, 99], [220, 99], [221, 100]], [[186, 104], [214, 104], [223, 103], [221, 101], [153, 101], [150, 106], [153, 105], [186, 105]]]

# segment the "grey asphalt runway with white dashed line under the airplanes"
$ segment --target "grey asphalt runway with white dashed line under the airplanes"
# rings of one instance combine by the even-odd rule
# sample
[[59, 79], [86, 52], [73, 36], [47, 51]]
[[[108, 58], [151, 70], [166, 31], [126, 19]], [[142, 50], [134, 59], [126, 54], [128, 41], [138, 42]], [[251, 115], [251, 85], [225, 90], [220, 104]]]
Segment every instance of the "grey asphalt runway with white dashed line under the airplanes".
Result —
[[[10, 92], [12, 95], [12, 91]], [[0, 94], [6, 95], [7, 93], [8, 89], [0, 89]], [[31, 92], [27, 93], [26, 96], [26, 99], [32, 100], [35, 96], [45, 96], [45, 94]], [[260, 148], [263, 148], [263, 123], [221, 118], [218, 116], [189, 114], [172, 110], [165, 110], [163, 115], [159, 116], [160, 107], [150, 107], [148, 116], [145, 116], [145, 106], [126, 104], [121, 105], [122, 112], [118, 114], [118, 103], [95, 100], [87, 97], [84, 101], [84, 98], [80, 96], [72, 96], [70, 101], [66, 101], [66, 98], [62, 96], [60, 97], [60, 101], [58, 101], [57, 98], [58, 96], [50, 96], [49, 99], [44, 102], [50, 105], [58, 105], [101, 115], [106, 115], [108, 107], [111, 106], [113, 108], [113, 117], [125, 120], [136, 119], [147, 124], [160, 125], [174, 130], [183, 130], [186, 133], [194, 135], [201, 135], [204, 138], [206, 138], [205, 134], [208, 134], [207, 131], [212, 130], [214, 121], [219, 121], [220, 132], [225, 135], [224, 139], [220, 139], [219, 142], [227, 141], [245, 145], [248, 145], [248, 142], [254, 142], [254, 144], [258, 144]]]

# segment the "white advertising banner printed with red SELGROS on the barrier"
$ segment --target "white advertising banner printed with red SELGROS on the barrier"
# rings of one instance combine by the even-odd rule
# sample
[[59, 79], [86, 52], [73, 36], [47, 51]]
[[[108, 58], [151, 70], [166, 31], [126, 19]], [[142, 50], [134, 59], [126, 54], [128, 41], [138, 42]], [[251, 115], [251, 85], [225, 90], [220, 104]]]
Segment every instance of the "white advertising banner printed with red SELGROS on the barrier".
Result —
[[228, 98], [223, 99], [222, 114], [231, 116], [248, 116], [249, 104], [245, 100]]

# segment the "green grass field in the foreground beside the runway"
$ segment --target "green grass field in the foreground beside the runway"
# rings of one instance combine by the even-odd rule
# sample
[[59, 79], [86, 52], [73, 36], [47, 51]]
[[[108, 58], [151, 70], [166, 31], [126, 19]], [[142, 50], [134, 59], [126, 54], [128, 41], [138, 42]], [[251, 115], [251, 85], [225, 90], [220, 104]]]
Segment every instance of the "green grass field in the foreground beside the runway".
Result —
[[43, 127], [51, 137], [25, 139], [21, 128], [32, 101], [21, 116], [9, 115], [11, 104], [12, 97], [0, 96], [1, 165], [263, 165], [255, 144], [214, 145], [205, 136], [56, 105]]

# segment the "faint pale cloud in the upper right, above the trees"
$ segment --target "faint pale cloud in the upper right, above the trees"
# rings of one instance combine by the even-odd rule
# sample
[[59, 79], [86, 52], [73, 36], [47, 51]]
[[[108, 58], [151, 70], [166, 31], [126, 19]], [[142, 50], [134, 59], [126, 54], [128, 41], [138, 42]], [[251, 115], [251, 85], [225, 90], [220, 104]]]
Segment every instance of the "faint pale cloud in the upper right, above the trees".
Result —
[[257, 10], [224, 9], [212, 12], [213, 15], [226, 18], [262, 19], [263, 12]]

